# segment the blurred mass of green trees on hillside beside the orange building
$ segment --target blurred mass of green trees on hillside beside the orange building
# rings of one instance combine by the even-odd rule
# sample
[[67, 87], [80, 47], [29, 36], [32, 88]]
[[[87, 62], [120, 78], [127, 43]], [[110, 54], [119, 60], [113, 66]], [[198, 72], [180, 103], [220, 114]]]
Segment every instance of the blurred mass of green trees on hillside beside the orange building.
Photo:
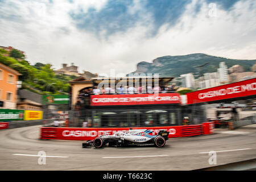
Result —
[[[76, 76], [56, 75], [51, 64], [36, 63], [30, 65], [26, 60], [17, 61], [15, 56], [16, 51], [12, 51], [12, 56], [3, 56], [7, 54], [5, 50], [0, 50], [0, 63], [15, 69], [22, 74], [20, 80], [23, 81], [22, 88], [31, 90], [39, 94], [63, 94], [69, 92], [69, 81]], [[19, 52], [20, 53], [20, 52]], [[55, 83], [55, 84], [52, 84]]]

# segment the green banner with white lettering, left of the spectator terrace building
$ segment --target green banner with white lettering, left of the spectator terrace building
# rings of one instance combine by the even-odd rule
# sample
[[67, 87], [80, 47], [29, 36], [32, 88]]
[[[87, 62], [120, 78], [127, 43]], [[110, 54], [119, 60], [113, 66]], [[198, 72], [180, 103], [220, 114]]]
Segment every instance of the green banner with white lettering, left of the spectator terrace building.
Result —
[[54, 104], [68, 104], [68, 95], [47, 95], [42, 96], [43, 105], [54, 105]]

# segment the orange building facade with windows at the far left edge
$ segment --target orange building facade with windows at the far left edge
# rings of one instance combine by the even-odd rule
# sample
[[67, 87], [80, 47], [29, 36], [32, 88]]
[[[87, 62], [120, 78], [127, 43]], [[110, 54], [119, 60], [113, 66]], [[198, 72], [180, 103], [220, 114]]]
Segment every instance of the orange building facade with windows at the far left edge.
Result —
[[16, 109], [16, 82], [21, 74], [0, 63], [0, 108]]

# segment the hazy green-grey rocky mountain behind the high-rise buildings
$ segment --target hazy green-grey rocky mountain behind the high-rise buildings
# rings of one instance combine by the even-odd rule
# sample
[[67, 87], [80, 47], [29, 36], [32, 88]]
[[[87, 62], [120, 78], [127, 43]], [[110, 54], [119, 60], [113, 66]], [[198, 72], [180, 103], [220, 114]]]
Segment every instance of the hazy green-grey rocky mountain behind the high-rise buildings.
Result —
[[226, 59], [225, 57], [210, 56], [203, 53], [193, 53], [184, 56], [163, 56], [154, 59], [151, 63], [142, 61], [137, 64], [137, 70], [133, 73], [159, 73], [161, 77], [179, 77], [185, 73], [198, 73], [196, 66], [205, 65], [202, 73], [217, 72], [220, 62], [225, 61], [228, 68], [239, 64], [244, 67], [245, 72], [251, 71], [256, 60]]

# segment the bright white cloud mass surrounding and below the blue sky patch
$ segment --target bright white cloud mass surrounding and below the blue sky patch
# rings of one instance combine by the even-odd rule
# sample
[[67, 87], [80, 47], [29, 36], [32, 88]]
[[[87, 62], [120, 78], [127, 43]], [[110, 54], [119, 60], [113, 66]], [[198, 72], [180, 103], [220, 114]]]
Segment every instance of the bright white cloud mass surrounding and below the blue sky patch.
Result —
[[[194, 0], [174, 27], [165, 24], [158, 35], [151, 38], [145, 35], [153, 26], [152, 14], [143, 11], [143, 6], [134, 1], [134, 5], [139, 6], [131, 6], [129, 13], [141, 12], [141, 21], [108, 39], [98, 39], [91, 32], [77, 29], [68, 15], [72, 10], [86, 12], [92, 6], [99, 11], [106, 1], [8, 2], [15, 3], [21, 10], [17, 11], [15, 6], [0, 7], [4, 16], [19, 16], [16, 21], [0, 18], [0, 44], [26, 51], [27, 60], [33, 64], [42, 61], [60, 68], [61, 63], [73, 62], [80, 71], [110, 74], [113, 68], [116, 73], [133, 72], [139, 61], [166, 55], [207, 53], [232, 59], [256, 59], [253, 0], [238, 2], [230, 11], [217, 9], [217, 17], [209, 17], [208, 4], [203, 0]], [[203, 7], [196, 13], [198, 2]]]

